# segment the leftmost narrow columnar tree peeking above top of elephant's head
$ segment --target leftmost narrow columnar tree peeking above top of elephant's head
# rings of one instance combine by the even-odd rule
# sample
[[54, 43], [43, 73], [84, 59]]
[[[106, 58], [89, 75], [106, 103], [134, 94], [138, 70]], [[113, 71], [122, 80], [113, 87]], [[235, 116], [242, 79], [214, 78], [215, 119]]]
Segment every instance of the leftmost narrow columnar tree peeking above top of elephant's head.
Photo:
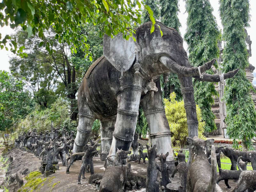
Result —
[[[159, 7], [158, 7], [157, 3], [158, 2], [155, 1], [155, 0], [145, 0], [144, 1], [144, 4], [148, 5], [151, 8], [151, 10], [153, 11], [153, 13], [154, 13], [153, 16], [156, 20], [159, 19], [159, 14], [160, 14], [160, 10], [159, 10]], [[141, 22], [145, 23], [145, 22], [148, 22], [148, 21], [150, 21], [149, 16], [148, 16], [148, 12], [144, 9], [142, 11], [142, 14], [141, 14]]]

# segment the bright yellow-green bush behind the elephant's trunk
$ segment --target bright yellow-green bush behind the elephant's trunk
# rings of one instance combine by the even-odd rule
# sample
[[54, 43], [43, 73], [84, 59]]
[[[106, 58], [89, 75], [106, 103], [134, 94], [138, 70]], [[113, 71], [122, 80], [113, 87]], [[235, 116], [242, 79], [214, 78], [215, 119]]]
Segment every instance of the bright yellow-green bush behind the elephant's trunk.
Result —
[[[170, 100], [164, 99], [165, 114], [172, 133], [172, 146], [185, 148], [188, 137], [187, 116], [184, 108], [184, 101], [176, 101], [176, 94], [170, 94]], [[205, 123], [202, 121], [201, 109], [196, 106], [198, 120], [198, 137], [204, 139], [203, 132]]]

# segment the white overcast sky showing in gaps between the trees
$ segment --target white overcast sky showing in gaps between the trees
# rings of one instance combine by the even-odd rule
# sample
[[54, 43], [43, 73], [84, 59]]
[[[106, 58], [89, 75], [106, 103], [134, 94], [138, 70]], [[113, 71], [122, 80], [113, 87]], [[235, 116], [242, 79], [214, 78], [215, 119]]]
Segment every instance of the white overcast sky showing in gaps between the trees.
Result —
[[[219, 28], [222, 28], [221, 25], [221, 20], [220, 20], [220, 14], [219, 14], [219, 1], [218, 0], [210, 0], [212, 7], [213, 7], [213, 15], [216, 17], [217, 23]], [[180, 4], [180, 13], [179, 13], [179, 19], [181, 22], [181, 28], [180, 28], [180, 32], [181, 35], [184, 37], [184, 34], [186, 32], [186, 28], [187, 28], [187, 17], [188, 14], [185, 13], [185, 2], [183, 0], [179, 0], [179, 4]], [[256, 62], [253, 62], [254, 60], [256, 60], [256, 35], [253, 35], [253, 31], [256, 31], [256, 1], [255, 0], [251, 0], [250, 1], [250, 5], [251, 5], [251, 11], [250, 14], [252, 15], [251, 17], [251, 22], [250, 25], [251, 27], [247, 29], [248, 35], [250, 35], [251, 37], [251, 41], [252, 41], [252, 57], [249, 58], [250, 63], [256, 67]], [[4, 37], [6, 34], [11, 34], [13, 33], [13, 30], [10, 27], [6, 27], [4, 26], [3, 28], [0, 28], [0, 32], [2, 34], [2, 36]], [[185, 50], [187, 50], [187, 44], [184, 41], [183, 44]], [[6, 70], [9, 71], [9, 57], [12, 56], [12, 52], [7, 52], [5, 49], [0, 50], [0, 70]], [[254, 74], [254, 80], [253, 80], [253, 84], [256, 84], [256, 70], [254, 70], [253, 74]]]

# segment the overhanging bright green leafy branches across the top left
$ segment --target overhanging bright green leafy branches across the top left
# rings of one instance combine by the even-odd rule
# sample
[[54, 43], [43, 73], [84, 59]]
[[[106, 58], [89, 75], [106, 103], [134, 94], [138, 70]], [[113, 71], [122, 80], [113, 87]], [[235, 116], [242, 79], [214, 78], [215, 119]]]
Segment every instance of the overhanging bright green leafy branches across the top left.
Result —
[[[45, 37], [45, 30], [53, 27], [56, 31], [55, 38], [60, 43], [67, 43], [72, 46], [71, 51], [76, 53], [77, 49], [87, 52], [89, 44], [86, 36], [82, 33], [80, 25], [93, 23], [99, 25], [104, 23], [104, 30], [108, 36], [113, 37], [119, 32], [124, 38], [129, 39], [135, 32], [135, 23], [141, 23], [140, 12], [136, 6], [141, 8], [140, 1], [125, 0], [3, 0], [0, 3], [0, 24], [10, 25], [11, 28], [21, 26], [28, 32], [28, 37], [37, 34], [41, 39]], [[152, 28], [155, 25], [153, 12], [145, 6], [149, 18], [152, 21]], [[9, 23], [10, 22], [10, 23]], [[129, 30], [127, 28], [130, 28]], [[101, 35], [102, 32], [101, 32]], [[0, 46], [4, 48], [10, 36], [4, 38], [0, 34]], [[23, 56], [15, 41], [11, 41], [11, 51]], [[46, 50], [52, 53], [52, 42], [47, 42]], [[6, 49], [8, 49], [5, 46]], [[92, 60], [91, 56], [90, 59]]]

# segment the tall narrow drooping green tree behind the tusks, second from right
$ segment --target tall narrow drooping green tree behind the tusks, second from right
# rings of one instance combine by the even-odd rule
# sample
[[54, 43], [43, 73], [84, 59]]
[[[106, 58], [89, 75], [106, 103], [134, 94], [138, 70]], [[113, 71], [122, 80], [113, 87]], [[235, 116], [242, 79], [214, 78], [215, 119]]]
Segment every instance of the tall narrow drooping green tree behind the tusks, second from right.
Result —
[[[188, 43], [189, 62], [192, 66], [201, 66], [205, 62], [217, 58], [219, 55], [218, 30], [216, 18], [212, 14], [213, 8], [209, 0], [187, 0], [188, 12], [187, 31], [184, 36]], [[217, 67], [217, 65], [215, 65]], [[207, 73], [213, 74], [212, 69]], [[202, 82], [193, 79], [196, 104], [202, 110], [202, 119], [205, 121], [205, 131], [216, 130], [215, 115], [212, 113], [211, 104], [214, 102], [212, 95], [217, 95], [212, 82]]]

